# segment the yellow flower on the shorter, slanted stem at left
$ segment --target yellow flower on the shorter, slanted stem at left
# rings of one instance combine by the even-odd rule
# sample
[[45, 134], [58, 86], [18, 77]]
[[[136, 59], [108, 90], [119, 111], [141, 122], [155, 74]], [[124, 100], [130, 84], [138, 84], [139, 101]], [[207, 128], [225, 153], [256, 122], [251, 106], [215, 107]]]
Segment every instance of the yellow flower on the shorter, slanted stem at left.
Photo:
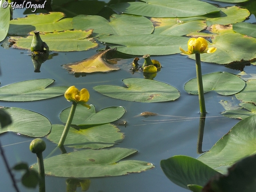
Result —
[[85, 88], [79, 91], [75, 86], [71, 86], [66, 90], [64, 96], [67, 101], [81, 104], [89, 109], [91, 108], [90, 105], [86, 104], [90, 98], [90, 94], [89, 91]]

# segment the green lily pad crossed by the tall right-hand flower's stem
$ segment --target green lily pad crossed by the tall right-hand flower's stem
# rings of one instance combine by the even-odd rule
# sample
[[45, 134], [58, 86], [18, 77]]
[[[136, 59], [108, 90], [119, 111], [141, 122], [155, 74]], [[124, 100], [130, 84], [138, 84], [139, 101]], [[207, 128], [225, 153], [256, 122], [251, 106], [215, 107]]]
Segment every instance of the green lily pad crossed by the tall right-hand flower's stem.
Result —
[[[215, 90], [221, 95], [236, 94], [244, 89], [245, 82], [234, 74], [228, 72], [215, 72], [202, 75], [204, 93]], [[189, 94], [198, 94], [197, 78], [186, 82], [185, 91]]]

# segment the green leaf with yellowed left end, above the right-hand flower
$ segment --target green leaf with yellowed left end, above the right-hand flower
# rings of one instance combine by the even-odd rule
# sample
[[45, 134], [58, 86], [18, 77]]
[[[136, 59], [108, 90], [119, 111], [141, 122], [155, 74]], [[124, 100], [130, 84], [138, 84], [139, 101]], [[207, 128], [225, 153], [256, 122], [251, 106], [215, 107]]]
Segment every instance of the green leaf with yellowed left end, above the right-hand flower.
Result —
[[207, 26], [205, 21], [196, 20], [186, 23], [178, 23], [174, 18], [151, 18], [154, 26], [154, 34], [183, 36], [192, 32], [202, 31]]

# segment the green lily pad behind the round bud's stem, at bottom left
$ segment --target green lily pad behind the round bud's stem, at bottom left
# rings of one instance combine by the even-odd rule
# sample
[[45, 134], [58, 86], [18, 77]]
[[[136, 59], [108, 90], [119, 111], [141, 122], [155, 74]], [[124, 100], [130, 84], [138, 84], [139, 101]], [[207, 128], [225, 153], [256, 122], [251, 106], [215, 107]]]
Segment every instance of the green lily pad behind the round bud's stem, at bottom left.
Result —
[[[136, 152], [135, 149], [125, 148], [87, 149], [50, 157], [43, 163], [48, 176], [75, 178], [119, 176], [154, 168], [154, 165], [145, 161], [119, 161]], [[34, 164], [31, 168], [38, 170], [38, 165]]]

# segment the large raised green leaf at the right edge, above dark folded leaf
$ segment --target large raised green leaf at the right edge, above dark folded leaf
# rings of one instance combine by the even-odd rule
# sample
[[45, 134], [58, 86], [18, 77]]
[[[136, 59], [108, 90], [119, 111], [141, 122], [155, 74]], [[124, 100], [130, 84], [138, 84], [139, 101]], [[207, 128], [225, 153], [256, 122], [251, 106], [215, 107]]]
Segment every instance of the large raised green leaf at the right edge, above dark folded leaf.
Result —
[[198, 157], [198, 160], [225, 174], [236, 161], [256, 153], [255, 125], [256, 115], [239, 121], [208, 152]]

